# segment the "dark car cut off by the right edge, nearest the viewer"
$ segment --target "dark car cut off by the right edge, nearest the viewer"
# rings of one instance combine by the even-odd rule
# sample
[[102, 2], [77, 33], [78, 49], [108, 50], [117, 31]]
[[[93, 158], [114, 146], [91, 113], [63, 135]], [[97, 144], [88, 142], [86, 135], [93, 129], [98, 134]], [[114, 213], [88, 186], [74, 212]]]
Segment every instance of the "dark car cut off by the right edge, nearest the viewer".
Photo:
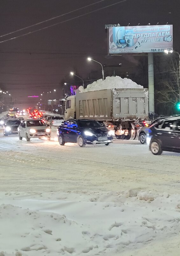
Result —
[[180, 118], [171, 117], [149, 128], [149, 149], [154, 155], [163, 151], [180, 153]]

